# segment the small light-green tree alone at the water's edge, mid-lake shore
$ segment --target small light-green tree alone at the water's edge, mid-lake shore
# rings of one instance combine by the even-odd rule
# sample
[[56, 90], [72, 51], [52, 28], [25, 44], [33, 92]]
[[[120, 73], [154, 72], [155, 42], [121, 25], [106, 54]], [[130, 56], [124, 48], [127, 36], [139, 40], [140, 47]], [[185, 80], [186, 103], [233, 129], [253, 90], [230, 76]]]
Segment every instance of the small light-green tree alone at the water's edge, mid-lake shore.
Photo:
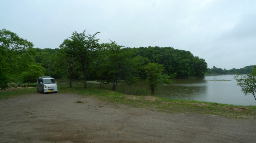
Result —
[[164, 67], [157, 63], [148, 63], [143, 67], [147, 73], [146, 81], [148, 83], [148, 87], [150, 88], [151, 95], [154, 95], [156, 85], [161, 84], [170, 84], [172, 81], [170, 80], [170, 76], [163, 75], [162, 72]]

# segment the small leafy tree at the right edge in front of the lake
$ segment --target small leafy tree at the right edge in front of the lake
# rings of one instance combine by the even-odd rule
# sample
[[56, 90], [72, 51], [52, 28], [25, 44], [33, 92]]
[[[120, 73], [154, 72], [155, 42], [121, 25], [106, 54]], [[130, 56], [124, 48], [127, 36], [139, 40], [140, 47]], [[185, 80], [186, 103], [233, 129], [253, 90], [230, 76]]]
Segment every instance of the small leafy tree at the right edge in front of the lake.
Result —
[[[256, 65], [253, 66], [252, 73], [249, 75], [240, 75], [239, 73], [237, 76], [234, 77], [237, 81], [237, 86], [241, 87], [241, 90], [244, 92], [245, 95], [252, 94], [255, 98], [256, 93]], [[255, 98], [256, 101], [256, 98]]]

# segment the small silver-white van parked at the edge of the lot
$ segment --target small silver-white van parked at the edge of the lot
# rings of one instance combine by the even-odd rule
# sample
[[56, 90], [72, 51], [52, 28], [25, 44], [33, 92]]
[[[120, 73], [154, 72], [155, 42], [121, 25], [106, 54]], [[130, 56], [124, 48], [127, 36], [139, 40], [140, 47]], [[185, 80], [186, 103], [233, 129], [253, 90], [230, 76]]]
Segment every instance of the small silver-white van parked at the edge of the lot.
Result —
[[49, 76], [38, 77], [36, 82], [36, 90], [37, 92], [42, 92], [43, 94], [47, 92], [57, 93], [57, 82], [54, 78]]

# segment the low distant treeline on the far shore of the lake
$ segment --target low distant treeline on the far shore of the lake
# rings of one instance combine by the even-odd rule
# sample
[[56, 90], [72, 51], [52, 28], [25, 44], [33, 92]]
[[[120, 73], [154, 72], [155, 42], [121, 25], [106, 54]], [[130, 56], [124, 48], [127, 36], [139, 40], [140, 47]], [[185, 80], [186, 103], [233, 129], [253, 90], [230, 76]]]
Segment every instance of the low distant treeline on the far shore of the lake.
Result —
[[252, 72], [253, 65], [252, 66], [245, 66], [244, 68], [232, 68], [227, 70], [226, 68], [217, 68], [213, 66], [212, 68], [208, 68], [207, 74], [249, 74]]

